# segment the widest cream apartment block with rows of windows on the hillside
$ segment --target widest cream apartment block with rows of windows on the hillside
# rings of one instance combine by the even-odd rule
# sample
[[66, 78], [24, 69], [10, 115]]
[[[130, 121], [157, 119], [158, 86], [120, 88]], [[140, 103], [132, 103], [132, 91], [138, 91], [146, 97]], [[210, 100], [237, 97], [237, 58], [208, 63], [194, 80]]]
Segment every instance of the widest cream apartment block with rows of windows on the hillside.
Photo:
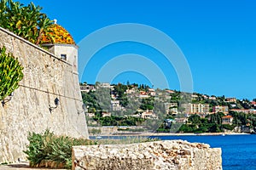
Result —
[[189, 114], [199, 114], [199, 113], [209, 113], [209, 104], [182, 104], [185, 113]]

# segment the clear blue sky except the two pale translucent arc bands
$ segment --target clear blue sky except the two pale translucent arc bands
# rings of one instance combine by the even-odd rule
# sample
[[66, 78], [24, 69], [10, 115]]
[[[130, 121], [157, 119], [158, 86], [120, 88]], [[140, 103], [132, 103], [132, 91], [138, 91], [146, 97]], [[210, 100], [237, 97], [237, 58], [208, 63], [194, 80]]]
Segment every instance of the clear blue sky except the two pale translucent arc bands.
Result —
[[[26, 4], [30, 1], [20, 2]], [[43, 12], [50, 19], [57, 19], [58, 24], [64, 26], [77, 43], [104, 26], [119, 23], [153, 26], [172, 37], [183, 51], [192, 72], [195, 92], [238, 99], [256, 98], [256, 1], [34, 0], [33, 3], [44, 7]], [[113, 44], [96, 54], [98, 57], [91, 61], [91, 74], [81, 81], [93, 80], [94, 72], [99, 68], [92, 65], [102, 65], [102, 60], [108, 62], [122, 53], [153, 58], [150, 54], [157, 52], [149, 48], [145, 50], [142, 44], [137, 43]], [[104, 58], [106, 55], [108, 58]], [[154, 62], [164, 72], [170, 69], [169, 86], [178, 89], [177, 75], [172, 66], [166, 68], [160, 57]], [[118, 75], [114, 81], [126, 82], [127, 77], [130, 77], [130, 82], [139, 82], [139, 79], [142, 83], [148, 82], [147, 77], [132, 71]]]

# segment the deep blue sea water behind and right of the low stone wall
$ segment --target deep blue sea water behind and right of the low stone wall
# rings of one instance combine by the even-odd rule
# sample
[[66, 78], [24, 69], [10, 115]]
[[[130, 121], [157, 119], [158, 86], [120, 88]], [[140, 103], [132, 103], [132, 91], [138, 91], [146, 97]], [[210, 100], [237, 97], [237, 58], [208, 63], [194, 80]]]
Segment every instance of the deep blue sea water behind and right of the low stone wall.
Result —
[[[113, 137], [113, 139], [120, 138], [124, 137]], [[189, 142], [210, 144], [212, 148], [222, 149], [224, 170], [256, 170], [256, 134], [150, 136], [150, 138], [183, 139]]]

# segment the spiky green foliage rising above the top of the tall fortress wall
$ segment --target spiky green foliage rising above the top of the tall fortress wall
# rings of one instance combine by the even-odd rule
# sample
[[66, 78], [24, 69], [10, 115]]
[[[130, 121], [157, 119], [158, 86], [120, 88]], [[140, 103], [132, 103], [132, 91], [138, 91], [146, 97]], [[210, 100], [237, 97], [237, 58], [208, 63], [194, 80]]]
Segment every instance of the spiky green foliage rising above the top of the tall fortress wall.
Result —
[[48, 32], [52, 20], [42, 14], [41, 7], [33, 3], [24, 6], [13, 0], [2, 0], [0, 2], [0, 26], [14, 32], [26, 40], [38, 44], [42, 33]]

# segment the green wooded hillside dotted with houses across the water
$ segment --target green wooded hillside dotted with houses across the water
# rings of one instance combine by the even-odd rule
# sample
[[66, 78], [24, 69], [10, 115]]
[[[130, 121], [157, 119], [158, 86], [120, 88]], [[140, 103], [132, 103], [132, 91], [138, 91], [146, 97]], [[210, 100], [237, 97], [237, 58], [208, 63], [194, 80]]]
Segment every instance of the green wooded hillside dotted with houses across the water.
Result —
[[[256, 127], [255, 99], [189, 94], [129, 82], [80, 83], [80, 89], [89, 127], [160, 133], [254, 133]], [[155, 127], [150, 129], [145, 122]]]

